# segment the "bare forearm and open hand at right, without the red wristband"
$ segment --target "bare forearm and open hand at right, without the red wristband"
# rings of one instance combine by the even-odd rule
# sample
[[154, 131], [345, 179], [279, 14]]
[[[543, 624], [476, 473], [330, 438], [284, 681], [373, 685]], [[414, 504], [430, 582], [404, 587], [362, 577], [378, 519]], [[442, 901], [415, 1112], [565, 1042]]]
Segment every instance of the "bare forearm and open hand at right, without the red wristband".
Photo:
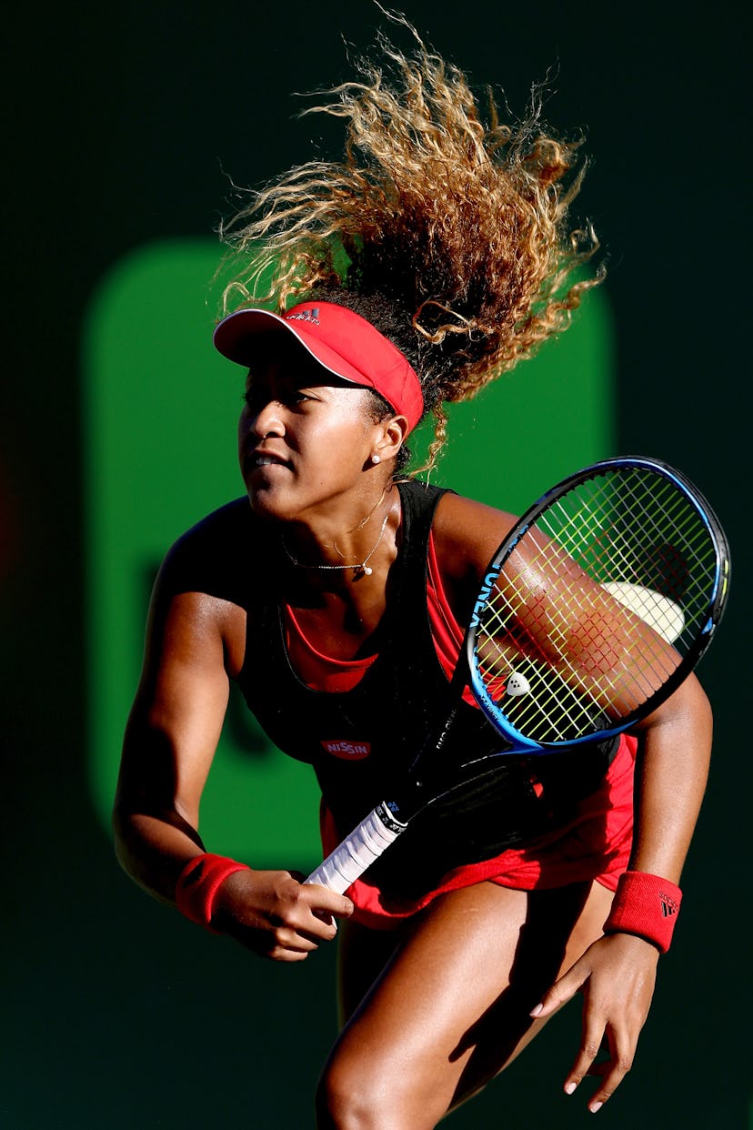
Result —
[[[711, 712], [694, 676], [639, 728], [636, 827], [630, 870], [680, 881], [700, 810], [711, 749]], [[579, 990], [583, 1038], [564, 1089], [586, 1075], [602, 1076], [589, 1101], [606, 1102], [632, 1063], [654, 993], [659, 953], [643, 938], [612, 933], [595, 941], [543, 997], [535, 1016], [546, 1017]], [[608, 1059], [594, 1064], [605, 1042]]]

